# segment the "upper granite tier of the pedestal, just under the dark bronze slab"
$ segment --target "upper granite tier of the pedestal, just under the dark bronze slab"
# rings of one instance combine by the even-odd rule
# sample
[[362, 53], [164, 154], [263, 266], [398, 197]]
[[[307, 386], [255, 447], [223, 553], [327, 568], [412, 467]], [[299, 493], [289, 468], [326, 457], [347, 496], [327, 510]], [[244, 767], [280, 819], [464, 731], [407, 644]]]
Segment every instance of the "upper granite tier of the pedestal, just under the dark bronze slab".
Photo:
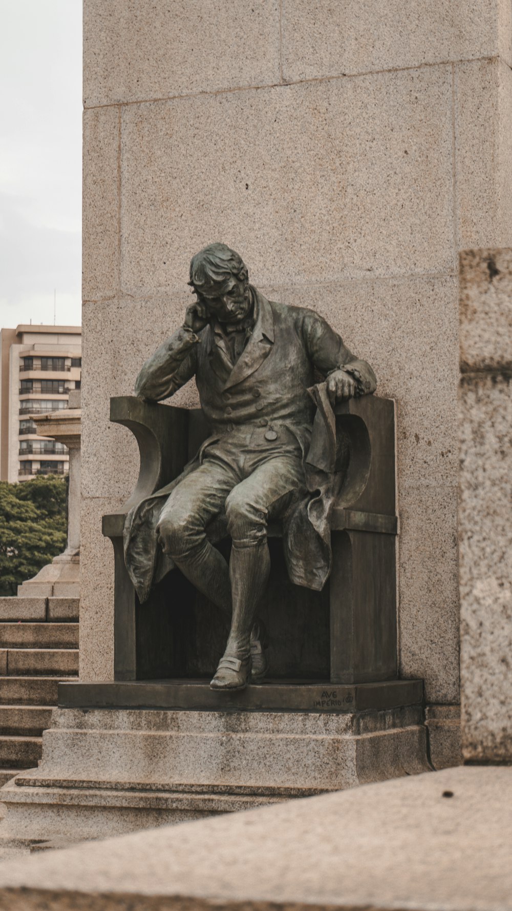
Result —
[[371, 712], [362, 730], [357, 714], [61, 709], [33, 777], [332, 790], [425, 771], [418, 722], [417, 709]]

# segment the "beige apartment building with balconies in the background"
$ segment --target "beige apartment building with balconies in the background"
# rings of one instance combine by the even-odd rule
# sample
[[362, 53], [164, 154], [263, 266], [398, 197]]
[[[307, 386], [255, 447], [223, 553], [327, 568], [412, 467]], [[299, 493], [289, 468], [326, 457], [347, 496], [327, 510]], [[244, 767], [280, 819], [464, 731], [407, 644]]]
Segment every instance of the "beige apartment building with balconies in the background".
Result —
[[80, 326], [0, 331], [0, 480], [67, 474], [65, 445], [38, 436], [31, 415], [66, 408], [80, 388], [81, 341]]

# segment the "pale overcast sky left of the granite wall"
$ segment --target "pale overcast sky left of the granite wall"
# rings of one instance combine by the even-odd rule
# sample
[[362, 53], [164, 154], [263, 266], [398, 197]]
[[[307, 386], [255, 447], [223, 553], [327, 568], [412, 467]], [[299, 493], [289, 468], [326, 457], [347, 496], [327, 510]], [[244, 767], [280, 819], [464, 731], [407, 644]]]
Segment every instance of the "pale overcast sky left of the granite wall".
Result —
[[81, 0], [0, 0], [0, 328], [80, 325], [81, 145]]

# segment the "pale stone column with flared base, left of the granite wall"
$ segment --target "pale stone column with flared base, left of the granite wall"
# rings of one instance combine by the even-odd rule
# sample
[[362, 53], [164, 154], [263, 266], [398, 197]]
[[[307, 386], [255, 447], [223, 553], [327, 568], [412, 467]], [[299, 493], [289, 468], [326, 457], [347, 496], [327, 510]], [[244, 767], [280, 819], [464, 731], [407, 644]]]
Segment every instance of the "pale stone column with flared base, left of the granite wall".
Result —
[[67, 546], [64, 553], [18, 586], [18, 596], [80, 597], [80, 392], [69, 394], [70, 407], [32, 415], [37, 433], [64, 443], [69, 450]]

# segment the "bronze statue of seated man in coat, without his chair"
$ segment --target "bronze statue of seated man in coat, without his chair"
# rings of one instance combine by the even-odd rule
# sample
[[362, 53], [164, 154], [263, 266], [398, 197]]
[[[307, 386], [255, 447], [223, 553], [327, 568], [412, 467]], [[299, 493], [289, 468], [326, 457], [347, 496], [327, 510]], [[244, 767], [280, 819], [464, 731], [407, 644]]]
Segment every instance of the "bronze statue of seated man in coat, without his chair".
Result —
[[[211, 436], [183, 474], [154, 495], [153, 537], [167, 568], [176, 565], [230, 616], [226, 651], [210, 686], [238, 690], [266, 674], [266, 633], [256, 612], [270, 570], [268, 521], [283, 521], [292, 581], [317, 589], [328, 576], [325, 542], [307, 510], [306, 456], [315, 415], [307, 390], [315, 371], [326, 378], [332, 404], [373, 393], [376, 378], [315, 312], [267, 301], [225, 244], [196, 253], [189, 284], [196, 301], [183, 326], [144, 364], [136, 394], [158, 402], [196, 376]], [[302, 511], [300, 504], [306, 504]], [[232, 538], [229, 566], [206, 535], [224, 511]], [[138, 524], [132, 516], [125, 529], [126, 565], [141, 600], [147, 584], [140, 583], [129, 555], [130, 548], [146, 547], [144, 516], [142, 509]], [[152, 573], [155, 566], [154, 560]]]

